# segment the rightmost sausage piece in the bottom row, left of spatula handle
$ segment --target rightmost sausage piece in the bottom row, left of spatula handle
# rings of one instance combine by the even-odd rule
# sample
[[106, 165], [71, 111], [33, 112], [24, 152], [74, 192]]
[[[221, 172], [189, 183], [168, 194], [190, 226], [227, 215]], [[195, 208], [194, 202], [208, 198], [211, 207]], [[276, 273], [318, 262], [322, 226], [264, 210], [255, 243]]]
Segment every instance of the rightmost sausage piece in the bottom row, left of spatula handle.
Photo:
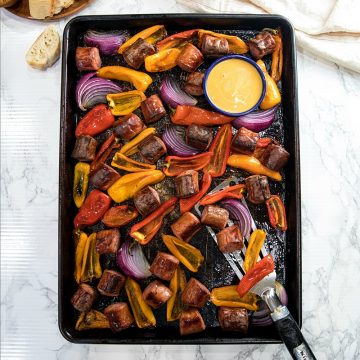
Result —
[[246, 309], [222, 306], [218, 312], [220, 326], [225, 331], [239, 331], [247, 334], [249, 316]]

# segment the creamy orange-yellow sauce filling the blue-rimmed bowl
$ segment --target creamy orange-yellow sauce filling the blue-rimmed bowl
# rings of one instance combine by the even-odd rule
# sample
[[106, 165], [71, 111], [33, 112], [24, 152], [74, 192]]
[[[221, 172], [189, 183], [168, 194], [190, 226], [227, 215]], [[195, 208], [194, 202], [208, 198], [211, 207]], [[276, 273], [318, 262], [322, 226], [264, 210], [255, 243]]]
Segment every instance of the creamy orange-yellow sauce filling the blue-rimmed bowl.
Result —
[[263, 83], [256, 68], [245, 60], [224, 60], [210, 71], [206, 92], [213, 104], [229, 113], [242, 113], [260, 100]]

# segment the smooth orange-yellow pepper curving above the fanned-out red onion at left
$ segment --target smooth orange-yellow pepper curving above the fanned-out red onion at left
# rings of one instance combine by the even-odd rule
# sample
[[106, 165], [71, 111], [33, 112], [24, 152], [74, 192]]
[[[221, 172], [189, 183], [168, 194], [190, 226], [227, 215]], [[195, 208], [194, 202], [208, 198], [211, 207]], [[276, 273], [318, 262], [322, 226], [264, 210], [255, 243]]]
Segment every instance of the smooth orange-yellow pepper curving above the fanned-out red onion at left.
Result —
[[124, 66], [104, 66], [97, 71], [96, 75], [105, 79], [127, 81], [139, 91], [146, 91], [152, 83], [150, 75]]

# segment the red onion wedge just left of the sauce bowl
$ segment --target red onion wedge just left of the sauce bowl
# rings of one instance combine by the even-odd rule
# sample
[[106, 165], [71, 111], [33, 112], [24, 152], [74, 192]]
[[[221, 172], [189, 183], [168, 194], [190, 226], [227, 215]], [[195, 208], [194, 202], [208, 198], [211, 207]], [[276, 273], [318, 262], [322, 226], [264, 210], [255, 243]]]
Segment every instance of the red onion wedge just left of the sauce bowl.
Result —
[[172, 108], [178, 105], [196, 105], [197, 100], [180, 88], [172, 77], [166, 76], [160, 85], [160, 96], [165, 104]]

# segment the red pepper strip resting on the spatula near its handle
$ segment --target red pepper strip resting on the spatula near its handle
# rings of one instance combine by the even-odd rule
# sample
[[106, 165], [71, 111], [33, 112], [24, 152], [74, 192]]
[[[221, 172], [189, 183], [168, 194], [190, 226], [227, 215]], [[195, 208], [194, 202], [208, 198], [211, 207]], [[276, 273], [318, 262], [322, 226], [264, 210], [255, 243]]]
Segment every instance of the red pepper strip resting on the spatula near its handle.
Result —
[[240, 297], [245, 296], [254, 285], [256, 285], [266, 275], [273, 272], [274, 267], [274, 259], [270, 254], [258, 261], [240, 280], [236, 289]]

